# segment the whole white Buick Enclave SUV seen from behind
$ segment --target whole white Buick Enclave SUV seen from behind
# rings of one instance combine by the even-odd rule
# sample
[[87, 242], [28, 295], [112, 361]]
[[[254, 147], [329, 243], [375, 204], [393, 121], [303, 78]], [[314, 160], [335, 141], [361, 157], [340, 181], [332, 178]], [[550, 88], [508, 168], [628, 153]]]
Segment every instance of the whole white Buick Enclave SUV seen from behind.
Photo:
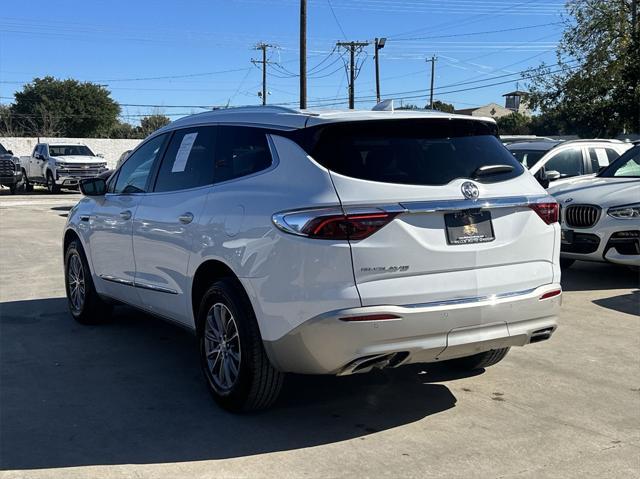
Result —
[[483, 368], [557, 326], [558, 205], [491, 119], [207, 112], [81, 188], [73, 316], [115, 300], [192, 329], [231, 410], [270, 405], [287, 372]]

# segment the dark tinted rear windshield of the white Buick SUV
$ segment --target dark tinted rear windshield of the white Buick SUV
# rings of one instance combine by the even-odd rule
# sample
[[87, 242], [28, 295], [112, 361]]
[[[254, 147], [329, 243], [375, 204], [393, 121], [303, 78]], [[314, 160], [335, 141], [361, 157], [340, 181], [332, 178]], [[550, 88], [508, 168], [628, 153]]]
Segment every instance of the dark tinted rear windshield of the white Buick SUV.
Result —
[[[524, 169], [490, 123], [416, 119], [334, 123], [307, 130], [306, 149], [336, 173], [405, 185], [445, 185], [457, 178], [497, 182]], [[477, 176], [480, 167], [507, 165]]]

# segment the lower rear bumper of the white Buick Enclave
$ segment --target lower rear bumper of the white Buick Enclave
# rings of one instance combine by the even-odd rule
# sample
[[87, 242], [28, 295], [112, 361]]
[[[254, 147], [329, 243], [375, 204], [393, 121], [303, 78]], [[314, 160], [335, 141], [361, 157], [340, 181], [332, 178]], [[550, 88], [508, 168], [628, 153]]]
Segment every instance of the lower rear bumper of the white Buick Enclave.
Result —
[[[408, 306], [368, 306], [316, 316], [275, 341], [265, 341], [282, 371], [348, 374], [369, 357], [393, 355], [392, 365], [429, 363], [547, 339], [557, 327], [560, 289], [549, 284], [500, 297], [466, 298]], [[392, 314], [393, 320], [344, 321]]]

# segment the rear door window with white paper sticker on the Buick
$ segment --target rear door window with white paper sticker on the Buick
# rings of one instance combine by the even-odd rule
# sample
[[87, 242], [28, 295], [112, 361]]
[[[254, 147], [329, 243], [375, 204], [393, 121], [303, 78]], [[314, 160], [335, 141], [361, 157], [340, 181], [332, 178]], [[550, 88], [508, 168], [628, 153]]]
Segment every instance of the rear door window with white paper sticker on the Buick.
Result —
[[213, 183], [216, 127], [185, 128], [173, 134], [154, 191], [176, 191]]

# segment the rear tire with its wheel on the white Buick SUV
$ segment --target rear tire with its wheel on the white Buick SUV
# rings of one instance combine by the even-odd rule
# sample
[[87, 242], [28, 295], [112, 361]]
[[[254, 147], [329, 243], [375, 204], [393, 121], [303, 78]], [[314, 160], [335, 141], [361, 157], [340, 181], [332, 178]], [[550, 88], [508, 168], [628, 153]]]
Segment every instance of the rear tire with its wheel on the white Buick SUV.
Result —
[[224, 409], [266, 409], [278, 398], [284, 374], [271, 365], [253, 308], [237, 281], [216, 281], [203, 295], [198, 344], [209, 392]]

